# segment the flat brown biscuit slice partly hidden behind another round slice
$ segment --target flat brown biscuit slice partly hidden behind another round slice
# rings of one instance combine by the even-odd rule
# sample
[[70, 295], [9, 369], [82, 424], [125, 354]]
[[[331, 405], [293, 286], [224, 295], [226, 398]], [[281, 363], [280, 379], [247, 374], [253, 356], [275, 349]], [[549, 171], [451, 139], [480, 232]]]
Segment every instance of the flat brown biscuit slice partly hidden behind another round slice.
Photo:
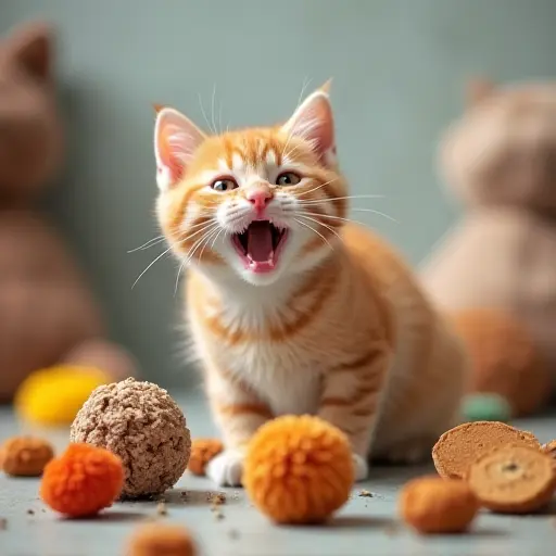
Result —
[[541, 450], [539, 440], [531, 432], [500, 421], [475, 421], [444, 432], [432, 448], [432, 459], [442, 478], [463, 479], [478, 456], [506, 444]]

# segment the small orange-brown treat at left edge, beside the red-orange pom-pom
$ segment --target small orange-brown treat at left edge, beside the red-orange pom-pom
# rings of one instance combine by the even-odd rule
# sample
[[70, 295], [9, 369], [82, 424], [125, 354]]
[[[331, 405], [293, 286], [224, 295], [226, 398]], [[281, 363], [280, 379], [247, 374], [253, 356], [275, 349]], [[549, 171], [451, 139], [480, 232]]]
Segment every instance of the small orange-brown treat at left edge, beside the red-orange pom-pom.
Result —
[[1, 467], [13, 477], [39, 477], [54, 457], [52, 445], [35, 437], [8, 439], [1, 450]]

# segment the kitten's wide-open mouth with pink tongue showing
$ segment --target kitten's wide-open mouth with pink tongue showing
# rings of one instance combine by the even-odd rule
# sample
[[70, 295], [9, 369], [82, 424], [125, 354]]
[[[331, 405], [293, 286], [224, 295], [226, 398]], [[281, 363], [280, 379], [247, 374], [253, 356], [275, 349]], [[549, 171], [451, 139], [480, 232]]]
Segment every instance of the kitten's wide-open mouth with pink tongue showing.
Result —
[[245, 268], [262, 274], [274, 270], [287, 238], [287, 229], [269, 220], [255, 220], [242, 233], [233, 233], [231, 242]]

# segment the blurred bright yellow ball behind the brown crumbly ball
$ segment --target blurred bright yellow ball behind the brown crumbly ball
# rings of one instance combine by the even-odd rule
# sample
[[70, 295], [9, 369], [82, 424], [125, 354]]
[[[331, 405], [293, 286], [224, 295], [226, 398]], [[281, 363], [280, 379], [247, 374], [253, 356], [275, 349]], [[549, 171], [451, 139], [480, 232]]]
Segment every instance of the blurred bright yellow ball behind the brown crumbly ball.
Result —
[[90, 393], [110, 382], [97, 368], [61, 365], [30, 374], [15, 394], [17, 414], [46, 426], [71, 425]]

